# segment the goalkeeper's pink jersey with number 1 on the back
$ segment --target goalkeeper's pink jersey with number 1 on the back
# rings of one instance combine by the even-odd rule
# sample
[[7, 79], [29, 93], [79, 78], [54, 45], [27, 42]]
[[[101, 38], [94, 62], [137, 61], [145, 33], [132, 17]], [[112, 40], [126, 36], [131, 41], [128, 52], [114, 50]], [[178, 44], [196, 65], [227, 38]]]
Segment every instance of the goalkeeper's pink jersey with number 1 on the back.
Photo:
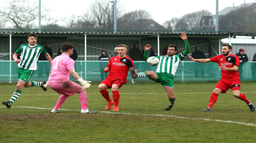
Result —
[[75, 61], [66, 54], [61, 54], [52, 60], [52, 72], [49, 82], [66, 82], [69, 80], [68, 69], [75, 69]]

